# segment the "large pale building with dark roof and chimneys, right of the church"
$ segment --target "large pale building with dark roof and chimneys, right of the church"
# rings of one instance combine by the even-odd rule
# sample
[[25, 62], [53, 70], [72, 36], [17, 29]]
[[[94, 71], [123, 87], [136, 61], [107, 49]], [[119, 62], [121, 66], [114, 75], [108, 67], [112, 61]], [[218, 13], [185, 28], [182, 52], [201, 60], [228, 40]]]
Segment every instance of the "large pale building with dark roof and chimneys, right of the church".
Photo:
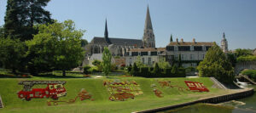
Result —
[[170, 42], [166, 46], [166, 61], [171, 64], [178, 59], [181, 59], [183, 67], [197, 66], [199, 62], [205, 58], [207, 50], [213, 46], [213, 42], [184, 42], [183, 38], [180, 41]]

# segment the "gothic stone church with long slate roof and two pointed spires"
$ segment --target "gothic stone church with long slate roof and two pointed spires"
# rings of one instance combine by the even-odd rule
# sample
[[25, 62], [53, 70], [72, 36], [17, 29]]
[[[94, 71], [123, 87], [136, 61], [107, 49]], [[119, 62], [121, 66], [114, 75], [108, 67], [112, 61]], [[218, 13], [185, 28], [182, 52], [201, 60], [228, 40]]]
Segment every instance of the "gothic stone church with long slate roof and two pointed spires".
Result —
[[149, 9], [145, 20], [143, 40], [108, 37], [108, 24], [105, 23], [104, 37], [93, 37], [85, 47], [86, 55], [102, 54], [104, 47], [108, 47], [113, 56], [125, 56], [131, 48], [155, 48], [154, 31], [150, 19]]

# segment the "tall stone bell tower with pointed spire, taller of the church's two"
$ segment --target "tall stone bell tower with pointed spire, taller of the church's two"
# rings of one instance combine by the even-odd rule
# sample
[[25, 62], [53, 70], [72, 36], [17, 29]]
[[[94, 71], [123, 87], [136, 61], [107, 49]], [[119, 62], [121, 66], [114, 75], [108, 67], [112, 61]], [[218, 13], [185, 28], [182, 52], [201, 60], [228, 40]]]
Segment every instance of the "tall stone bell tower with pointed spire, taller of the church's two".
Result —
[[154, 31], [151, 23], [149, 9], [147, 9], [147, 15], [146, 15], [145, 26], [144, 26], [143, 47], [155, 48]]

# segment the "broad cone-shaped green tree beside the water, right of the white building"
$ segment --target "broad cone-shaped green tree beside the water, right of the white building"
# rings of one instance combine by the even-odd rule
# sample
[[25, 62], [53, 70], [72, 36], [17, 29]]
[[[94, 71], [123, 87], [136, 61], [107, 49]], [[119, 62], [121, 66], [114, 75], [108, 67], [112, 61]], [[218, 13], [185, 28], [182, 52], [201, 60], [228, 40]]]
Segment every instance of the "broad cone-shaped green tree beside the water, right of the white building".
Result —
[[197, 67], [199, 76], [213, 76], [218, 81], [230, 83], [234, 80], [234, 68], [216, 43], [209, 48], [205, 59]]

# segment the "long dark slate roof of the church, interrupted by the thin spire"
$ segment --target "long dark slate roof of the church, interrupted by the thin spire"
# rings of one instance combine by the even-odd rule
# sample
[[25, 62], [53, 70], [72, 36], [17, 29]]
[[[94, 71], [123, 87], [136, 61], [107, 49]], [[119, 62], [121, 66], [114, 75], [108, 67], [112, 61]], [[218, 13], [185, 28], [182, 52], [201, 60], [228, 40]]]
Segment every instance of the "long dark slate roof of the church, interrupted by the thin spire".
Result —
[[[109, 37], [109, 40], [114, 45], [143, 47], [143, 41], [138, 40], [138, 39]], [[104, 44], [104, 45], [108, 44], [104, 37], [94, 37], [90, 43], [91, 44]]]

